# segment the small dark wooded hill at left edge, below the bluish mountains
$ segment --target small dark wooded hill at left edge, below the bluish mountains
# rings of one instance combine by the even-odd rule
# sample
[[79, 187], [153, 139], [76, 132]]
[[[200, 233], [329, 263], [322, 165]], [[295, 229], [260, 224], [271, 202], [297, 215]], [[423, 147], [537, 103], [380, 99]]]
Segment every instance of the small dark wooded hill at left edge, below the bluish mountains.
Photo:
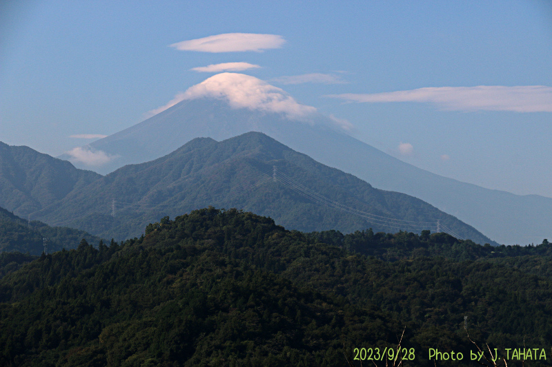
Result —
[[32, 220], [28, 223], [0, 207], [0, 252], [19, 251], [40, 255], [44, 251], [43, 238], [47, 238], [48, 251], [75, 249], [82, 238], [97, 243], [99, 238], [86, 231], [67, 227], [50, 227]]

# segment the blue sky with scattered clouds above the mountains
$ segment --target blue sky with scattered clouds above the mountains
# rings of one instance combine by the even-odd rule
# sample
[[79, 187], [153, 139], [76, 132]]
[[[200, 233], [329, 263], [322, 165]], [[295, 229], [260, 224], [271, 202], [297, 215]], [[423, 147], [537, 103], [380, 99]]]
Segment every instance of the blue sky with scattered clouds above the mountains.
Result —
[[[266, 36], [193, 41], [235, 33]], [[0, 140], [57, 156], [224, 63], [417, 167], [552, 197], [550, 1], [4, 1]]]

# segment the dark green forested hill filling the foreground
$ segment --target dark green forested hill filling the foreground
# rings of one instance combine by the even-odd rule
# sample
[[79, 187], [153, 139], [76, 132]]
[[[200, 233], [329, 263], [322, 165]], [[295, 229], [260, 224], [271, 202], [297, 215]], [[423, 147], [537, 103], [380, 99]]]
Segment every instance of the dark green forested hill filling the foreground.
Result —
[[[416, 359], [404, 365], [428, 366], [428, 348], [469, 356], [464, 322], [500, 353], [550, 350], [549, 244], [518, 251], [369, 232], [286, 231], [208, 208], [121, 244], [41, 256], [0, 280], [0, 364], [346, 366], [344, 344], [353, 356], [384, 348], [406, 326]], [[341, 247], [322, 242], [340, 237]], [[462, 247], [475, 255], [464, 260]], [[542, 275], [523, 265], [537, 254]]]

